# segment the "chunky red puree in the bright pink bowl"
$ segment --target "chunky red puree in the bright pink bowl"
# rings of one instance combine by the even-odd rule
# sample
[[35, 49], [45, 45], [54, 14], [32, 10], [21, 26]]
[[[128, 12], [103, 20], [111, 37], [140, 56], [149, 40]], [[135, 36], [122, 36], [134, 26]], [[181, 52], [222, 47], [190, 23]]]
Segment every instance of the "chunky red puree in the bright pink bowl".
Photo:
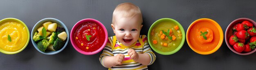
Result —
[[[87, 40], [86, 35], [90, 37]], [[103, 28], [94, 22], [85, 22], [78, 26], [74, 34], [75, 43], [79, 49], [85, 52], [92, 52], [99, 49], [105, 40]]]

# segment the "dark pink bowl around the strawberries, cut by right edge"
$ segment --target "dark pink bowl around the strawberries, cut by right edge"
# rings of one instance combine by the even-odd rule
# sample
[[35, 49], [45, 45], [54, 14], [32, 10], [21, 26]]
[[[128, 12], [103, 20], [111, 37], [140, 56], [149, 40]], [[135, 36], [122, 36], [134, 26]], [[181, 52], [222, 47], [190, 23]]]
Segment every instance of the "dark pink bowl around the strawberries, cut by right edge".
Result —
[[249, 54], [254, 53], [254, 52], [256, 51], [256, 49], [254, 49], [254, 50], [252, 50], [252, 51], [250, 51], [250, 52], [238, 53], [238, 52], [233, 48], [233, 46], [229, 45], [229, 38], [230, 38], [230, 36], [233, 35], [233, 34], [232, 34], [232, 28], [234, 27], [234, 25], [236, 25], [236, 23], [242, 23], [243, 21], [249, 21], [249, 22], [251, 22], [251, 23], [254, 25], [254, 27], [256, 26], [256, 22], [253, 21], [252, 19], [248, 19], [248, 18], [239, 18], [239, 19], [236, 19], [236, 20], [232, 21], [232, 22], [228, 25], [228, 27], [227, 27], [227, 29], [226, 29], [226, 32], [225, 32], [225, 41], [226, 41], [227, 47], [229, 47], [229, 49], [230, 49], [231, 51], [233, 51], [234, 53], [236, 53], [236, 54], [238, 54], [238, 55], [249, 55]]

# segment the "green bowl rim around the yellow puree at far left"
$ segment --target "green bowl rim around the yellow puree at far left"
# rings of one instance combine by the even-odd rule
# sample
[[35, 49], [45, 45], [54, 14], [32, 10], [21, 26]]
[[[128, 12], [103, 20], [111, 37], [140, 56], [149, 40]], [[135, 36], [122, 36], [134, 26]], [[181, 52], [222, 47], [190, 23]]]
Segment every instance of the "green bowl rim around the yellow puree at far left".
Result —
[[27, 28], [27, 25], [25, 23], [23, 23], [19, 19], [15, 19], [15, 18], [5, 18], [5, 19], [2, 19], [2, 20], [0, 20], [0, 24], [2, 24], [4, 22], [7, 22], [7, 21], [16, 21], [18, 23], [21, 23], [25, 27], [25, 29], [27, 30], [27, 40], [25, 41], [26, 44], [21, 49], [19, 49], [17, 51], [5, 51], [3, 49], [0, 49], [0, 52], [2, 52], [4, 54], [16, 54], [16, 53], [19, 53], [20, 51], [22, 51], [23, 49], [25, 49], [27, 47], [27, 45], [29, 43], [29, 39], [30, 39], [30, 37], [29, 37], [29, 35], [30, 35], [29, 29]]

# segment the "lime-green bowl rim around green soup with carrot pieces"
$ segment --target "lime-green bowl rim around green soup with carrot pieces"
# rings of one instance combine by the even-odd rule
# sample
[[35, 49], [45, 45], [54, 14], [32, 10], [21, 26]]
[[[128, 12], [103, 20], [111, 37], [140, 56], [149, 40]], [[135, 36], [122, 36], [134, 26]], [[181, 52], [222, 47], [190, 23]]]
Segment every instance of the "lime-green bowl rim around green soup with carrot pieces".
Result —
[[[155, 27], [155, 25], [158, 25], [160, 22], [163, 22], [163, 21], [165, 21], [165, 22], [166, 22], [166, 21], [167, 21], [167, 22], [171, 22], [171, 23], [174, 23], [174, 24], [178, 25], [180, 31], [182, 32], [182, 39], [181, 39], [181, 42], [180, 42], [179, 46], [178, 46], [176, 49], [174, 49], [173, 51], [169, 51], [169, 52], [160, 51], [160, 50], [156, 49], [156, 48], [154, 47], [154, 45], [153, 45], [153, 42], [150, 41], [150, 40], [151, 40], [151, 37], [150, 37], [151, 34], [150, 34], [150, 33], [151, 33], [152, 29]], [[185, 34], [185, 31], [184, 31], [182, 25], [180, 25], [180, 23], [177, 22], [176, 20], [170, 19], [170, 18], [162, 18], [162, 19], [159, 19], [159, 20], [155, 21], [155, 22], [150, 26], [150, 28], [149, 28], [149, 30], [148, 30], [148, 43], [149, 43], [150, 47], [151, 47], [155, 52], [157, 52], [157, 53], [159, 53], [159, 54], [162, 54], [162, 55], [171, 55], [171, 54], [174, 54], [174, 53], [176, 53], [177, 51], [179, 51], [179, 50], [181, 49], [181, 47], [183, 46], [184, 42], [185, 42], [185, 37], [186, 37], [186, 34]], [[177, 44], [177, 45], [178, 45], [178, 44]]]

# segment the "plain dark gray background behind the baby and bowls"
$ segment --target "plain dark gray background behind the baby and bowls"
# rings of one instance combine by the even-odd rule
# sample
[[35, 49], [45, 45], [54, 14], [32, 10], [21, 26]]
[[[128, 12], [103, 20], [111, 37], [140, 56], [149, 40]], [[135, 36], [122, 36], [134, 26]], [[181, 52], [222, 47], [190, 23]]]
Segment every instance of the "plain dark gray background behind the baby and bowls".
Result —
[[[146, 35], [152, 23], [166, 17], [180, 22], [185, 32], [196, 19], [210, 18], [220, 24], [224, 34], [235, 19], [246, 17], [256, 21], [255, 0], [1, 0], [0, 19], [20, 19], [31, 32], [38, 21], [47, 17], [61, 20], [69, 31], [81, 19], [93, 18], [105, 25], [108, 36], [113, 36], [112, 12], [123, 2], [132, 2], [141, 8], [144, 19], [141, 34]], [[83, 55], [69, 42], [62, 52], [44, 55], [30, 40], [20, 53], [0, 53], [0, 70], [107, 70], [99, 62], [100, 54]], [[220, 49], [210, 55], [195, 53], [186, 41], [173, 55], [155, 54], [157, 59], [148, 66], [149, 70], [255, 70], [256, 65], [256, 53], [233, 53], [225, 40]]]

